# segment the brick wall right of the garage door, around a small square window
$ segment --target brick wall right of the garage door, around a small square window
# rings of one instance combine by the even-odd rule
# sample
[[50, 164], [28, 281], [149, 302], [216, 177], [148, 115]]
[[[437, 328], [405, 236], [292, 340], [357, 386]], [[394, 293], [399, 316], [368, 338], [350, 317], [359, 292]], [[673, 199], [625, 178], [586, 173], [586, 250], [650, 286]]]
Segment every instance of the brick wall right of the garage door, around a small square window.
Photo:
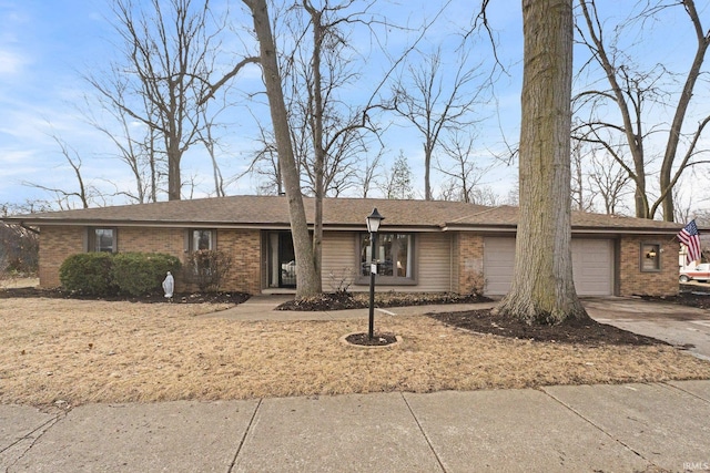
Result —
[[[660, 245], [660, 271], [641, 271], [641, 244]], [[619, 241], [619, 296], [676, 296], [678, 241], [668, 236], [623, 237]]]

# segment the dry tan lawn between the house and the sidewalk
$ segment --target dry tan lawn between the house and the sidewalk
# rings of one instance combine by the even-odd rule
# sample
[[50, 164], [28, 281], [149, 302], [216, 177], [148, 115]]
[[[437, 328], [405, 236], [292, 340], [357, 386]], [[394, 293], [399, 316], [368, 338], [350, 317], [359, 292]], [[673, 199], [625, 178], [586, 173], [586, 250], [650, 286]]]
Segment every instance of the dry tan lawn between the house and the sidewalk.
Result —
[[150, 402], [710, 378], [669, 347], [537, 343], [378, 318], [400, 345], [339, 338], [366, 320], [237, 322], [214, 305], [0, 299], [0, 402]]

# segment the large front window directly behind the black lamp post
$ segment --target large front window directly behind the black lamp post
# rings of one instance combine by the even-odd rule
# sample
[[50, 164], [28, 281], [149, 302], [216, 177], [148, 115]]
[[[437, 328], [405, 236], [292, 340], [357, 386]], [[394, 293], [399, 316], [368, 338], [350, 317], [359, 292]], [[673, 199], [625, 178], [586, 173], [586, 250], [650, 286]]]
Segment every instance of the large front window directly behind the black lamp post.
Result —
[[[359, 238], [359, 280], [369, 280], [372, 245], [369, 234]], [[414, 236], [409, 234], [377, 234], [375, 248], [377, 276], [382, 284], [415, 284]]]

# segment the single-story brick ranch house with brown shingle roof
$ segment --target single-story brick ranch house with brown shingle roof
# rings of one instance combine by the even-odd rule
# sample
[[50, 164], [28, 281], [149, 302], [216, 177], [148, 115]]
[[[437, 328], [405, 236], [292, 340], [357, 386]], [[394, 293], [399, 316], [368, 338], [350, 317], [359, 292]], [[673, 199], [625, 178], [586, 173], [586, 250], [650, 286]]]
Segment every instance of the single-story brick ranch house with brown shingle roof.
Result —
[[[304, 198], [308, 223], [314, 200]], [[378, 291], [504, 295], [515, 259], [518, 208], [458, 202], [326, 198], [323, 289], [365, 291], [369, 236], [379, 230]], [[156, 251], [180, 257], [219, 249], [233, 259], [223, 288], [250, 294], [295, 287], [288, 206], [282, 196], [234, 196], [12, 216], [39, 227], [40, 286], [60, 285], [59, 267], [82, 251]], [[575, 286], [581, 296], [668, 296], [678, 292], [679, 224], [572, 213]], [[185, 287], [178, 278], [178, 290]], [[182, 286], [182, 287], [181, 287]]]

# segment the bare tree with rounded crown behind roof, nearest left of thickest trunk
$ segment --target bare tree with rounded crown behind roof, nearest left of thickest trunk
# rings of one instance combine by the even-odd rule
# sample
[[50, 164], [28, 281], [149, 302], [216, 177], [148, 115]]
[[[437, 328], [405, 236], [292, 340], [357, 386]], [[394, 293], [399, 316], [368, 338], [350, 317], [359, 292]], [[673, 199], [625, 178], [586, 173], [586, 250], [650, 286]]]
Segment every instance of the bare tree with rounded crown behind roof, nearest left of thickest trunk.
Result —
[[409, 65], [406, 76], [393, 86], [393, 109], [412, 123], [424, 138], [424, 198], [432, 197], [432, 158], [447, 130], [473, 126], [470, 113], [481, 100], [484, 85], [479, 66], [469, 65], [469, 52], [458, 58], [458, 64], [447, 68], [442, 60], [442, 49], [422, 54], [418, 66]]

